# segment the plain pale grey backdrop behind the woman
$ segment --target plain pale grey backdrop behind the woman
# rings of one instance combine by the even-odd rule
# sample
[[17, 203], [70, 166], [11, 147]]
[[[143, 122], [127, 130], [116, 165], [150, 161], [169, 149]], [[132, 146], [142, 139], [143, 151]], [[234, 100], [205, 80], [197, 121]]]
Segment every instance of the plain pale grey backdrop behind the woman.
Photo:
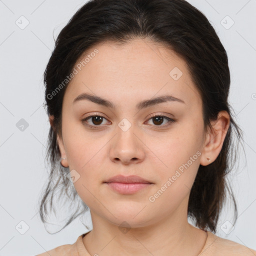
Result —
[[[49, 171], [44, 161], [49, 123], [42, 75], [53, 36], [85, 2], [0, 0], [0, 255], [35, 255], [73, 243], [88, 231], [78, 217], [49, 234], [36, 208]], [[245, 140], [246, 161], [241, 151], [238, 171], [228, 176], [238, 219], [231, 232], [223, 231], [230, 228], [233, 216], [233, 208], [226, 204], [216, 234], [256, 249], [256, 1], [189, 2], [210, 20], [227, 51], [229, 102]], [[85, 218], [90, 223], [90, 215]]]

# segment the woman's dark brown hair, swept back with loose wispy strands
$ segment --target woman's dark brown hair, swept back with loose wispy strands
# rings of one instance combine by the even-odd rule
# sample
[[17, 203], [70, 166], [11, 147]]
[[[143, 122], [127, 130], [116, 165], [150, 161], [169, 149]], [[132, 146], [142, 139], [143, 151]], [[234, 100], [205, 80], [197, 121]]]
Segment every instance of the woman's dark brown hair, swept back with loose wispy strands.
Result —
[[[227, 101], [230, 74], [226, 51], [205, 15], [185, 0], [90, 0], [60, 31], [44, 72], [45, 106], [47, 114], [53, 115], [54, 120], [48, 134], [47, 158], [51, 171], [40, 201], [41, 220], [46, 222], [48, 202], [50, 210], [54, 210], [54, 197], [59, 199], [66, 195], [69, 202], [76, 205], [68, 207], [70, 217], [62, 228], [88, 210], [67, 178], [68, 167], [60, 164], [56, 134], [61, 136], [62, 101], [68, 82], [61, 89], [59, 84], [63, 85], [66, 76], [89, 47], [110, 40], [125, 43], [136, 37], [164, 44], [186, 61], [202, 98], [205, 131], [211, 127], [210, 120], [216, 120], [219, 111], [229, 113], [230, 125], [221, 151], [215, 161], [199, 166], [187, 209], [188, 216], [199, 228], [215, 232], [226, 188], [232, 195], [235, 219], [237, 217], [226, 174], [233, 168], [239, 149], [233, 143], [233, 135], [240, 141], [242, 131], [235, 123]], [[57, 93], [53, 95], [56, 89]], [[60, 193], [58, 198], [55, 195], [57, 190]], [[80, 211], [75, 199], [81, 204]]]

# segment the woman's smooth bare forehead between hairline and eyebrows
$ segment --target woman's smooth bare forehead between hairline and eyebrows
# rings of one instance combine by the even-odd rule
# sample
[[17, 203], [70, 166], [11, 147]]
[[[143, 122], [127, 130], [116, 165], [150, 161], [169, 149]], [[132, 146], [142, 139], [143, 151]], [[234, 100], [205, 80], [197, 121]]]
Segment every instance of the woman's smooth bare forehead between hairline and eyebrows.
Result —
[[74, 68], [77, 73], [64, 96], [69, 101], [83, 92], [104, 95], [117, 105], [124, 99], [132, 103], [157, 94], [200, 101], [186, 62], [163, 44], [146, 39], [93, 45]]

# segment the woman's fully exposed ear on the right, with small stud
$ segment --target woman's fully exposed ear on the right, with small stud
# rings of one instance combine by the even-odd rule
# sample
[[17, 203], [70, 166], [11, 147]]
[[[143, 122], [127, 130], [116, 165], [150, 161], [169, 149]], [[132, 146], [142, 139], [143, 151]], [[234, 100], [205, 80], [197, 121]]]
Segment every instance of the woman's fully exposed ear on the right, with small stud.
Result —
[[200, 158], [201, 165], [208, 165], [217, 158], [230, 124], [230, 116], [225, 110], [219, 111], [217, 120], [211, 121], [210, 123], [212, 129], [209, 129], [205, 136]]

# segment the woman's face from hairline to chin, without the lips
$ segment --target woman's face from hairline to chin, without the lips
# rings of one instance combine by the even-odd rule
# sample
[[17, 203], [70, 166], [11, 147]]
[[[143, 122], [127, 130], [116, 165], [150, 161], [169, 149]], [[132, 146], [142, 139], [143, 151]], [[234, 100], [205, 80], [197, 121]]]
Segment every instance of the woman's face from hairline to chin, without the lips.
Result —
[[[77, 193], [91, 214], [116, 225], [125, 220], [145, 226], [181, 208], [186, 213], [204, 130], [202, 101], [185, 61], [145, 39], [104, 42], [87, 54], [66, 88], [58, 136]], [[75, 100], [82, 93], [112, 105], [99, 104], [99, 98]], [[173, 98], [141, 103], [160, 96]], [[138, 175], [151, 184], [116, 191], [104, 181], [117, 174]]]

